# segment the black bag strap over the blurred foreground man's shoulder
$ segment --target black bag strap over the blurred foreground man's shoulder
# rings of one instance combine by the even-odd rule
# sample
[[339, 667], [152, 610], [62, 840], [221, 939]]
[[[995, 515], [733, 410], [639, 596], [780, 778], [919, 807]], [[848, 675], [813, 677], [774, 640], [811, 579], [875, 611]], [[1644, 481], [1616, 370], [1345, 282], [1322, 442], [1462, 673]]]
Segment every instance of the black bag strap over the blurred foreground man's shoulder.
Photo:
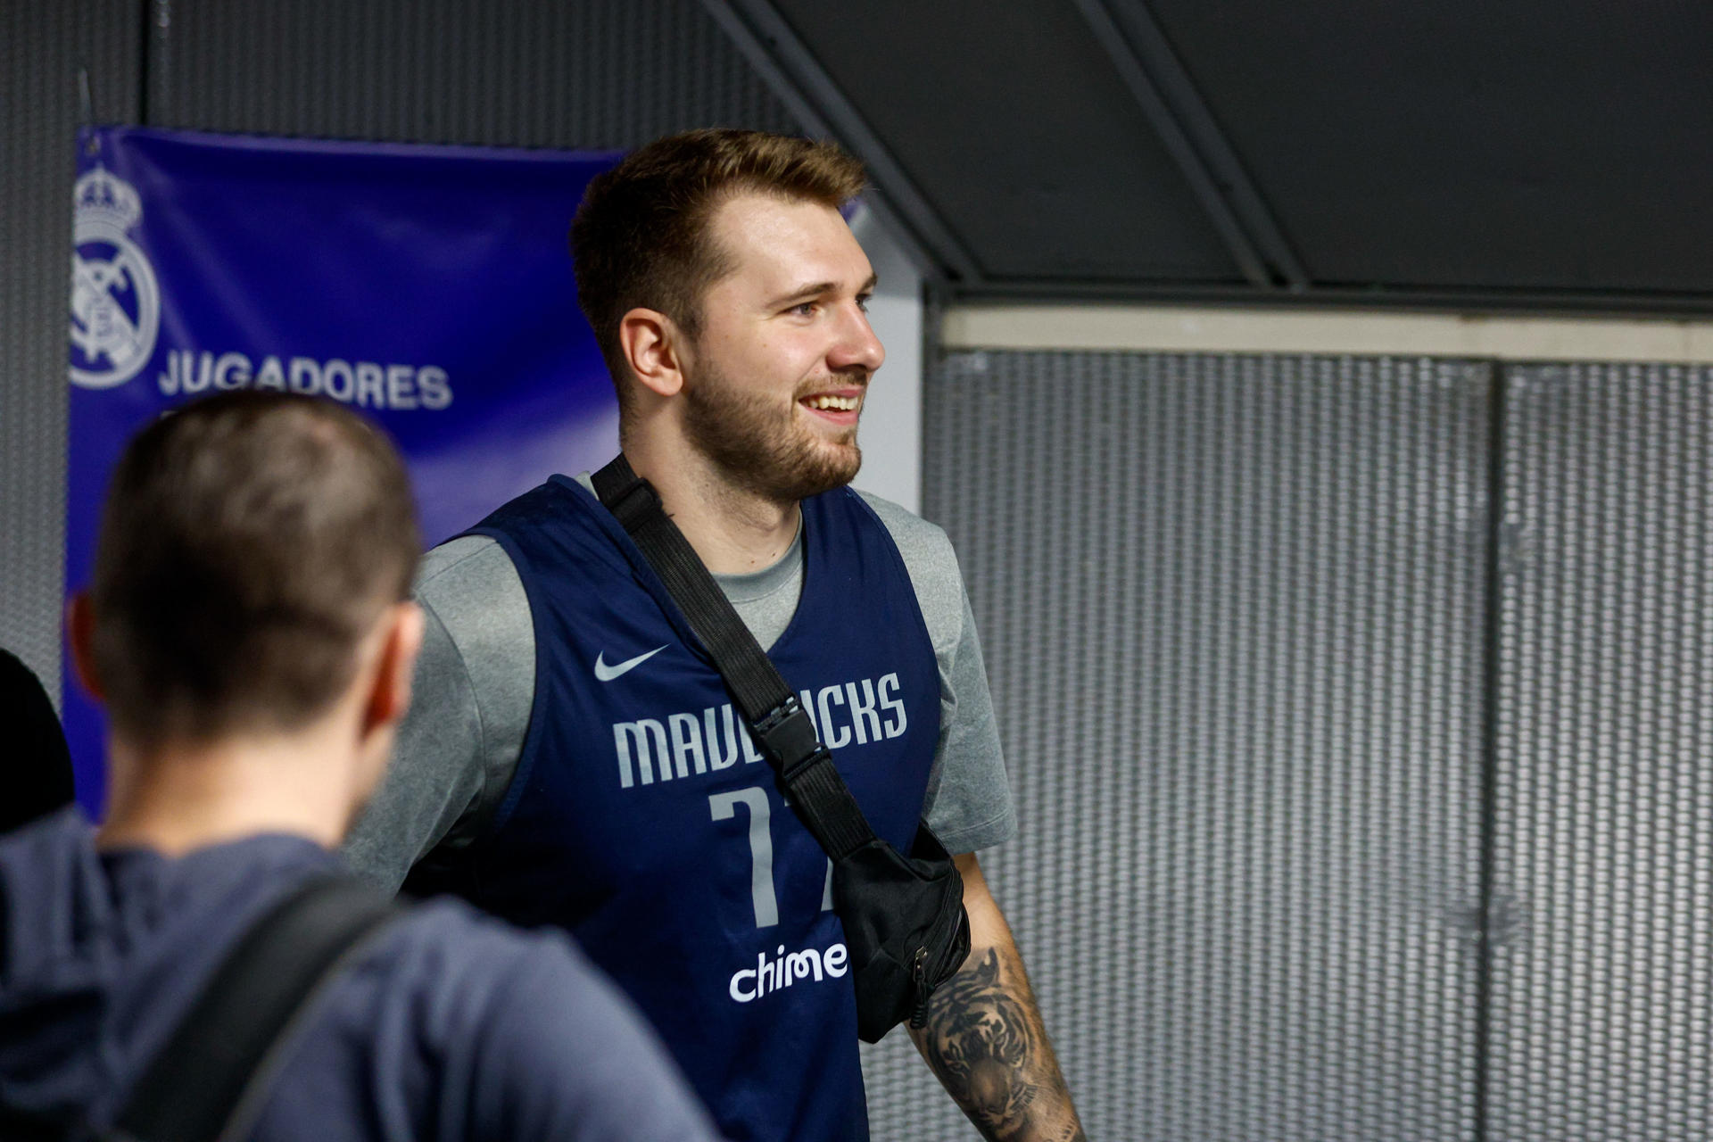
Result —
[[245, 931], [137, 1080], [115, 1142], [242, 1139], [310, 1002], [403, 907], [349, 875], [315, 877]]

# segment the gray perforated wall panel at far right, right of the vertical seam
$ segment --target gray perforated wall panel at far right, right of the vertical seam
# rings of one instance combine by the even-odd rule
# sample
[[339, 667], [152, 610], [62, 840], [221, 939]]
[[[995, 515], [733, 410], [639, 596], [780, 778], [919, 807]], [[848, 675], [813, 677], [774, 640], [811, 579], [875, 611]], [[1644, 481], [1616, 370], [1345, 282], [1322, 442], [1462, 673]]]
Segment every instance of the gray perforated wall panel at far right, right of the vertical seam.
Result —
[[1713, 372], [1509, 370], [1489, 1137], [1713, 1137]]

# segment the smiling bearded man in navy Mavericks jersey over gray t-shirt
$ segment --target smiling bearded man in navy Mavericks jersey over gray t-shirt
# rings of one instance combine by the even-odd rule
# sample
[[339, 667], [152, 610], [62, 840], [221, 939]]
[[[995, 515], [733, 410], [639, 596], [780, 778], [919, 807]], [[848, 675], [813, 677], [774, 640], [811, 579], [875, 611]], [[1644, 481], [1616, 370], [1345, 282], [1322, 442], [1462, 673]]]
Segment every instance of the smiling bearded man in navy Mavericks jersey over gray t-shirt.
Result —
[[[975, 853], [1014, 832], [982, 652], [946, 534], [846, 488], [884, 349], [839, 207], [841, 151], [658, 140], [591, 183], [577, 289], [620, 445], [803, 695], [880, 836], [959, 854], [971, 954], [913, 1032], [990, 1139], [1076, 1111]], [[401, 764], [351, 858], [572, 931], [733, 1139], [867, 1139], [827, 858], [718, 671], [588, 476], [430, 553]]]

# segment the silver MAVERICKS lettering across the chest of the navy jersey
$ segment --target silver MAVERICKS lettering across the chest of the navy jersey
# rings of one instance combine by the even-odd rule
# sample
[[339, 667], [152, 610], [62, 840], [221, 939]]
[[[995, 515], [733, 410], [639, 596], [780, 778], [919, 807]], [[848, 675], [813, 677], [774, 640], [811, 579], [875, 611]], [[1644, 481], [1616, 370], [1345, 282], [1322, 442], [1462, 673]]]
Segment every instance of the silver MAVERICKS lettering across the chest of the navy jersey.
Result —
[[[898, 738], [910, 728], [899, 688], [892, 673], [803, 690], [798, 699], [822, 745], [843, 750]], [[735, 765], [738, 757], [750, 764], [761, 760], [749, 728], [730, 702], [665, 719], [613, 723], [613, 750], [620, 789], [718, 772]]]

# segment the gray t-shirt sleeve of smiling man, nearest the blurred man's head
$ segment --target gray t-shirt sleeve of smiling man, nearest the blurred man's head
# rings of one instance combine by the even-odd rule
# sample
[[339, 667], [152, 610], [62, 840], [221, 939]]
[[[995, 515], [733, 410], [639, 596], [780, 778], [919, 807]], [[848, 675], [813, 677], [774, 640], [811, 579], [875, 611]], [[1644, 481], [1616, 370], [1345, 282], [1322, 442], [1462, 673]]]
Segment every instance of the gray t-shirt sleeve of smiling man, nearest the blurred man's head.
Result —
[[344, 842], [349, 865], [397, 890], [440, 842], [468, 844], [510, 784], [529, 729], [534, 627], [505, 550], [452, 539], [416, 575], [423, 649], [392, 765]]

